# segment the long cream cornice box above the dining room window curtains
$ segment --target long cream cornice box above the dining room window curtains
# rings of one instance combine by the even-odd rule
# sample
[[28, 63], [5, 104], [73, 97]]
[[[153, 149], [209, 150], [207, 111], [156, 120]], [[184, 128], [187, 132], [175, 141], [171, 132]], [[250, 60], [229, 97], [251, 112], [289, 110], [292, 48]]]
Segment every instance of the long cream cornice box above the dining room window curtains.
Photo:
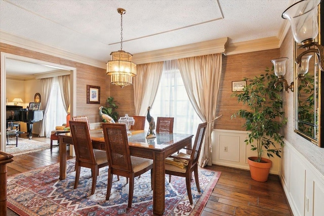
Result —
[[189, 45], [137, 53], [133, 55], [132, 60], [136, 64], [144, 64], [172, 59], [182, 59], [193, 56], [203, 56], [214, 53], [224, 53], [226, 44], [227, 37], [223, 37], [220, 39], [207, 40]]

